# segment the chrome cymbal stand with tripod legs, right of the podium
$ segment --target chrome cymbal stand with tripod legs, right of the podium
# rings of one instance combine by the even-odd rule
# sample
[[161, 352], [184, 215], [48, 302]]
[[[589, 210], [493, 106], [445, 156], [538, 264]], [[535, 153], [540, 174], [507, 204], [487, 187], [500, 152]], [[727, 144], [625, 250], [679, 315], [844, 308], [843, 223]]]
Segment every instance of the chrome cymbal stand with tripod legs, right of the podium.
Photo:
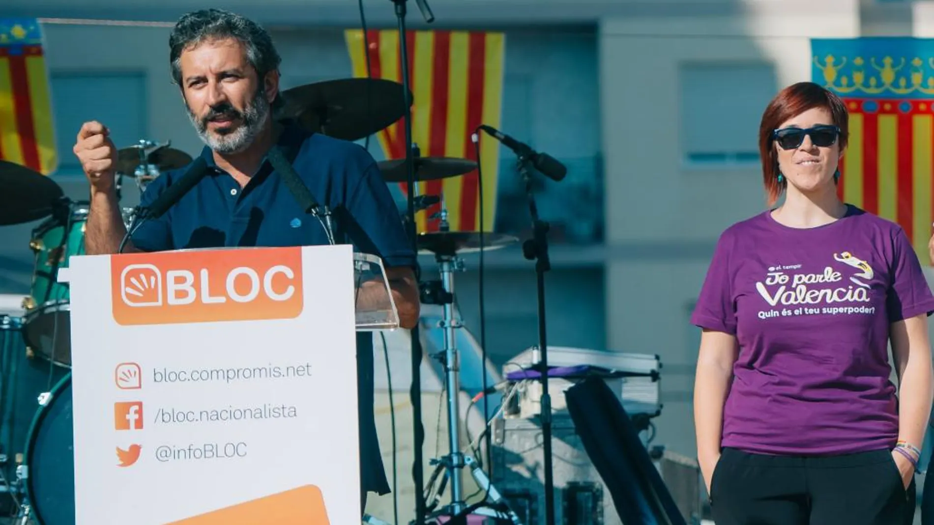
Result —
[[[447, 210], [442, 200], [441, 212], [439, 212], [441, 223], [438, 230], [449, 231], [447, 223]], [[455, 252], [438, 252], [435, 255], [438, 266], [441, 271], [440, 281], [428, 281], [423, 283], [421, 288], [421, 300], [426, 304], [440, 304], [443, 306], [442, 320], [438, 326], [444, 329], [444, 349], [434, 355], [445, 368], [445, 391], [447, 394], [447, 438], [449, 453], [441, 458], [431, 460], [432, 465], [436, 465], [431, 480], [435, 480], [444, 470], [444, 477], [441, 486], [435, 494], [431, 504], [427, 506], [433, 509], [439, 503], [441, 492], [446, 488], [447, 480], [451, 483], [451, 503], [441, 509], [432, 512], [426, 518], [450, 517], [452, 520], [457, 517], [464, 517], [467, 513], [477, 516], [487, 516], [489, 518], [507, 519], [514, 525], [522, 525], [521, 520], [513, 512], [502, 494], [490, 482], [489, 477], [480, 468], [479, 463], [460, 450], [460, 357], [457, 351], [455, 330], [462, 327], [460, 319], [454, 316], [454, 271], [463, 271], [463, 259], [456, 256]], [[486, 423], [486, 416], [484, 417]], [[488, 502], [480, 504], [467, 505], [464, 501], [463, 486], [461, 484], [460, 470], [469, 468], [471, 476], [477, 486], [485, 491], [488, 496]], [[489, 506], [488, 506], [489, 505]], [[493, 508], [492, 505], [502, 507], [502, 511]]]

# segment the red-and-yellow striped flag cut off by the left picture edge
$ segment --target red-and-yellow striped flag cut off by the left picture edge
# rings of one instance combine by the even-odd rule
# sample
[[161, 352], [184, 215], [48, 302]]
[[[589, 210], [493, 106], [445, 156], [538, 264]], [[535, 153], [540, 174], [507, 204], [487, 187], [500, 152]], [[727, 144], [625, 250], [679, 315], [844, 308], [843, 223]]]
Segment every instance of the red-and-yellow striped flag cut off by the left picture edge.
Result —
[[55, 152], [49, 75], [35, 19], [0, 19], [0, 159], [49, 174]]

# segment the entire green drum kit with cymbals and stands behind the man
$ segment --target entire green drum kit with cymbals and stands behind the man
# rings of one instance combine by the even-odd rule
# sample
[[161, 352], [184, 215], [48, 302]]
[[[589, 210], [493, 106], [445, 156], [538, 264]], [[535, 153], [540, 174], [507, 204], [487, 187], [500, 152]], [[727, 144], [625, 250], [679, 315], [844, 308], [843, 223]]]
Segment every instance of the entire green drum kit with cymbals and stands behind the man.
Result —
[[[339, 79], [285, 90], [282, 95], [286, 104], [276, 118], [289, 118], [305, 129], [349, 141], [361, 140], [404, 116], [402, 85], [388, 80]], [[118, 196], [125, 177], [132, 178], [142, 192], [161, 173], [183, 168], [191, 160], [170, 143], [141, 140], [123, 147], [117, 160]], [[417, 181], [460, 176], [477, 168], [469, 159], [416, 156], [413, 161]], [[405, 182], [405, 159], [384, 160], [378, 166], [387, 183]], [[24, 313], [0, 312], [0, 523], [8, 517], [18, 525], [74, 525], [70, 301], [68, 284], [59, 283], [57, 275], [68, 266], [69, 257], [85, 254], [89, 202], [70, 200], [50, 177], [4, 160], [0, 160], [0, 188], [0, 227], [41, 221], [28, 243], [34, 269], [29, 295], [22, 301]], [[429, 220], [438, 221], [437, 231], [418, 234], [417, 249], [435, 257], [440, 279], [420, 283], [421, 297], [424, 303], [444, 307], [444, 349], [432, 357], [445, 368], [446, 392], [457, 393], [455, 330], [460, 321], [454, 318], [453, 275], [464, 269], [460, 255], [518, 240], [495, 233], [450, 231], [444, 196], [419, 196], [416, 212], [431, 211], [434, 202], [440, 202], [439, 211]], [[125, 225], [131, 224], [133, 215], [133, 208], [122, 208]], [[451, 483], [448, 510], [462, 510], [460, 470], [471, 471], [488, 494], [495, 490], [489, 490], [488, 478], [476, 461], [461, 451], [457, 394], [448, 394], [447, 416], [449, 453], [432, 464], [439, 465], [443, 481]], [[513, 513], [491, 512], [490, 516], [518, 523]]]

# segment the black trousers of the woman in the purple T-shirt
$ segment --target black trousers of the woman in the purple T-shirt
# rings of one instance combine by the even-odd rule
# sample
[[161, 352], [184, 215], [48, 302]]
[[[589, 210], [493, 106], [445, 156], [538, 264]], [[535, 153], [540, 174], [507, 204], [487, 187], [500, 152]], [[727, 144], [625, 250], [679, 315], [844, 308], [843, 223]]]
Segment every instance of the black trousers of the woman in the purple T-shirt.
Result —
[[724, 449], [710, 491], [716, 525], [910, 525], [914, 490], [889, 450], [803, 458]]

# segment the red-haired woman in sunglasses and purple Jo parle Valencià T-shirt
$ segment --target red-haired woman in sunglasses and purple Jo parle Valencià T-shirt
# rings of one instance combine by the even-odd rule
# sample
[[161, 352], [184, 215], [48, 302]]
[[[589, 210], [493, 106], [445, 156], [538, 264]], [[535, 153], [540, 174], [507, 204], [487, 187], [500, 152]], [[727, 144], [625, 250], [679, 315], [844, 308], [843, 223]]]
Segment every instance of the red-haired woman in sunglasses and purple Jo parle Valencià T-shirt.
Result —
[[913, 517], [934, 297], [902, 228], [838, 198], [847, 137], [832, 92], [779, 92], [759, 128], [770, 209], [727, 228], [707, 270], [694, 417], [716, 525]]

